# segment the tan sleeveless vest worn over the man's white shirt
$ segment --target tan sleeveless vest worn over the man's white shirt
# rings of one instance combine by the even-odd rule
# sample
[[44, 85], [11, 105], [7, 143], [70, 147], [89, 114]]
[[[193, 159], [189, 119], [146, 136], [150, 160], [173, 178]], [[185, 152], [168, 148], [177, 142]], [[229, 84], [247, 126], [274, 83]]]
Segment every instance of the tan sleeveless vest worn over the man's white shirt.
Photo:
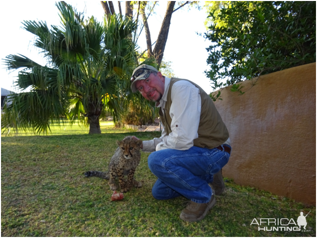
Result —
[[194, 146], [213, 149], [219, 145], [222, 145], [228, 138], [229, 132], [226, 125], [222, 121], [222, 118], [216, 109], [213, 100], [209, 97], [205, 91], [203, 91], [197, 84], [186, 80], [186, 79], [176, 79], [172, 78], [170, 82], [169, 91], [167, 94], [167, 102], [165, 108], [160, 107], [160, 118], [161, 122], [165, 127], [167, 135], [169, 135], [171, 130], [172, 118], [170, 116], [170, 108], [172, 104], [171, 91], [174, 83], [180, 80], [185, 80], [193, 85], [195, 85], [200, 91], [201, 97], [201, 111], [200, 111], [200, 121], [198, 127], [198, 138], [194, 140]]

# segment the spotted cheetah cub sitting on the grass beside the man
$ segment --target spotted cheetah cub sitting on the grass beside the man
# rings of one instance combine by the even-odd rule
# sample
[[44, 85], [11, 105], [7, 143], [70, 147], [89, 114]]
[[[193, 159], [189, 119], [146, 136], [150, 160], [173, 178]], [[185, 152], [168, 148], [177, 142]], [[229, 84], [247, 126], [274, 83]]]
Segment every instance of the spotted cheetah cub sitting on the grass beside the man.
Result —
[[[132, 186], [141, 188], [142, 184], [134, 180], [134, 172], [140, 163], [142, 141], [127, 136], [122, 141], [117, 141], [117, 144], [119, 147], [111, 158], [108, 171], [87, 171], [84, 173], [85, 176], [96, 176], [109, 180], [108, 184], [111, 190], [118, 189], [115, 182], [116, 177], [118, 177], [122, 193], [128, 192]], [[125, 175], [127, 175], [127, 181], [124, 180]]]

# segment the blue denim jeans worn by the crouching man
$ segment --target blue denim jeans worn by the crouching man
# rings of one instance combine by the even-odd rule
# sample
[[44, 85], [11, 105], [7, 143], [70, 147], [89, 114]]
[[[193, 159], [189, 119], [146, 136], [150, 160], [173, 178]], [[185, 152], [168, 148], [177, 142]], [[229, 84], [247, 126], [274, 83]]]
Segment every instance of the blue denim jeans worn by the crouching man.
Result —
[[212, 197], [213, 174], [228, 163], [230, 154], [219, 149], [193, 146], [188, 150], [165, 149], [148, 156], [148, 167], [157, 176], [152, 188], [156, 199], [184, 196], [196, 203]]

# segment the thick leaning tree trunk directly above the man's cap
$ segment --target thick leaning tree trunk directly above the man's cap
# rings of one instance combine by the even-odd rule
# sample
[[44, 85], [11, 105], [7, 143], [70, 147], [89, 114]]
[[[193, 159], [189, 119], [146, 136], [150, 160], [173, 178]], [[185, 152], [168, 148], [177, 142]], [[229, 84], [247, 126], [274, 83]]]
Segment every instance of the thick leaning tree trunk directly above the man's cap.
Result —
[[167, 10], [166, 10], [165, 17], [161, 26], [160, 34], [158, 34], [157, 41], [153, 50], [153, 54], [159, 66], [161, 65], [161, 62], [162, 62], [165, 45], [169, 35], [171, 18], [172, 18], [175, 3], [176, 3], [175, 1], [169, 1], [167, 4]]

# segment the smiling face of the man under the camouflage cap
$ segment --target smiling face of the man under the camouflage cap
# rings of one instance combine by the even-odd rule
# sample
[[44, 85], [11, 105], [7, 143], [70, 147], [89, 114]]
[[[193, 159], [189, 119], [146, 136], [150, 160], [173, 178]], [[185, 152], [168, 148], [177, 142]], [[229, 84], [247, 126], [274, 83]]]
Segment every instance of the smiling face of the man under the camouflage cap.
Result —
[[164, 83], [165, 78], [157, 72], [157, 75], [151, 73], [147, 79], [136, 81], [135, 86], [145, 99], [158, 102], [164, 94]]

